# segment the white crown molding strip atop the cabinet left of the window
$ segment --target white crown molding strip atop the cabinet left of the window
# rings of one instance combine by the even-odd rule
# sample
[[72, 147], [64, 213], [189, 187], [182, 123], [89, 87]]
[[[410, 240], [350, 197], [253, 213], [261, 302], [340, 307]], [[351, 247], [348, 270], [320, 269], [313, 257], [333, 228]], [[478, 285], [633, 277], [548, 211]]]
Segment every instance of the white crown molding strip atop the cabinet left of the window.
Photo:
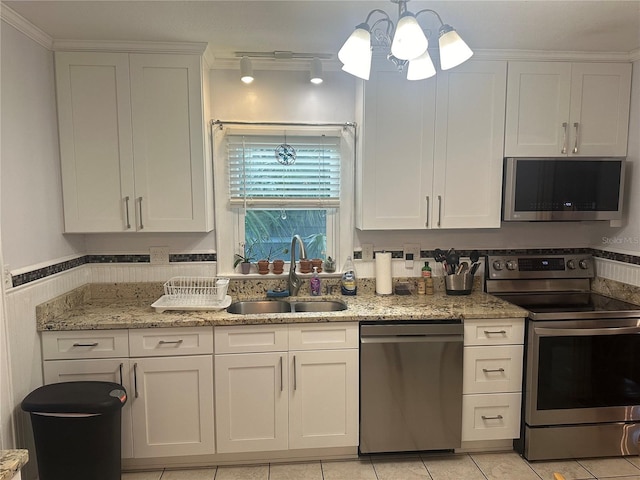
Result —
[[202, 55], [205, 42], [128, 42], [103, 40], [54, 40], [53, 51], [123, 52], [123, 53], [182, 53]]

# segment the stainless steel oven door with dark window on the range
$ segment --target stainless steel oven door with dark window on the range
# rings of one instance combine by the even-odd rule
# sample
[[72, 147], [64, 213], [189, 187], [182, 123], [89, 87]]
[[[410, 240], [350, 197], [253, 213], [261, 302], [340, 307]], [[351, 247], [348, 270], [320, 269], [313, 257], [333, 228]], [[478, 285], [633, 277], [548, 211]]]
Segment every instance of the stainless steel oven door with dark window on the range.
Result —
[[530, 321], [525, 422], [640, 420], [640, 319]]

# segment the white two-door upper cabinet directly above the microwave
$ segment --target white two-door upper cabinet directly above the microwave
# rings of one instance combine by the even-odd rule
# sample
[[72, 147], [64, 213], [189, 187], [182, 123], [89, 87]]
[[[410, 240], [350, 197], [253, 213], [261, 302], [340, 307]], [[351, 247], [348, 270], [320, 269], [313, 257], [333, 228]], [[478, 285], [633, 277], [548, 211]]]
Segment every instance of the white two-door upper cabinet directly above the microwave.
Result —
[[505, 156], [625, 156], [631, 64], [510, 62]]

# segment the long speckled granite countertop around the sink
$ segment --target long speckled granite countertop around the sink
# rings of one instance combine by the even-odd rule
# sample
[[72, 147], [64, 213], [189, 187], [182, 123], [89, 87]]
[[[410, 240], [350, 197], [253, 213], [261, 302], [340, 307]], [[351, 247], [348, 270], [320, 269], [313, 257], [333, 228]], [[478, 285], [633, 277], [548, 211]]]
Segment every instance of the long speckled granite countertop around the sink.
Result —
[[[105, 287], [100, 287], [104, 289]], [[269, 323], [354, 322], [363, 320], [435, 320], [469, 318], [526, 317], [526, 310], [483, 292], [471, 295], [389, 295], [363, 293], [356, 296], [324, 295], [322, 297], [286, 297], [284, 300], [338, 299], [347, 304], [339, 312], [296, 312], [260, 315], [237, 315], [219, 311], [156, 312], [151, 304], [158, 296], [117, 291], [99, 293], [95, 286], [85, 285], [36, 309], [37, 328], [47, 330], [105, 330], [118, 328], [195, 327], [208, 325], [255, 325]], [[157, 291], [156, 291], [157, 292]], [[160, 290], [161, 293], [161, 290]], [[264, 295], [234, 292], [233, 300], [263, 299]]]

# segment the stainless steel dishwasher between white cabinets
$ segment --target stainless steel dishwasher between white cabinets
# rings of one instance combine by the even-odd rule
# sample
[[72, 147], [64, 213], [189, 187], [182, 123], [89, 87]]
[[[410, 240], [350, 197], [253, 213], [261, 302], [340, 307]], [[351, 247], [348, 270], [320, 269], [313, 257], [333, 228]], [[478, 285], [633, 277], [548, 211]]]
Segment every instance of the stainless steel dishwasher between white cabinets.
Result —
[[462, 436], [459, 320], [360, 327], [360, 452], [452, 450]]

